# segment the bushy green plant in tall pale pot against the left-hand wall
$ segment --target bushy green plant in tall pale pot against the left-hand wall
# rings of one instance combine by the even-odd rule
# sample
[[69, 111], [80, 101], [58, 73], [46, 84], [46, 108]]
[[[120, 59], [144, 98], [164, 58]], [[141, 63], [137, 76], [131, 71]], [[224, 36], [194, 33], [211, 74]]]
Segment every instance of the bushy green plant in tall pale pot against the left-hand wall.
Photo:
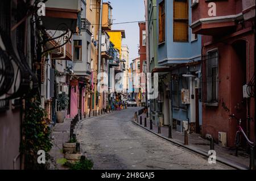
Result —
[[57, 123], [63, 123], [65, 119], [65, 110], [68, 107], [68, 95], [65, 94], [65, 92], [61, 92], [59, 95], [57, 95]]

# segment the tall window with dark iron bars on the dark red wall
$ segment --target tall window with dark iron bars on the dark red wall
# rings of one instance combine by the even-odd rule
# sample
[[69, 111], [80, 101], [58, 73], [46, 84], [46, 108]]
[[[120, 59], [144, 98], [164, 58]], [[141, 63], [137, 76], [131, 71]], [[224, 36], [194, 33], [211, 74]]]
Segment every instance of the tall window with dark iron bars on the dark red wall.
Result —
[[202, 102], [218, 106], [218, 50], [211, 50], [202, 56]]

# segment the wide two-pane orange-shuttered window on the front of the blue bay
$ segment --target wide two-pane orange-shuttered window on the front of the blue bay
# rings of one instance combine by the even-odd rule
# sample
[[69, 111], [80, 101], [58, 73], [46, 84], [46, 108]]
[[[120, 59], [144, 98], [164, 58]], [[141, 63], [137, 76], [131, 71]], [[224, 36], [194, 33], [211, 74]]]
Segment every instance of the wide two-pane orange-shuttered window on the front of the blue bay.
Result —
[[188, 41], [188, 0], [174, 0], [174, 41]]

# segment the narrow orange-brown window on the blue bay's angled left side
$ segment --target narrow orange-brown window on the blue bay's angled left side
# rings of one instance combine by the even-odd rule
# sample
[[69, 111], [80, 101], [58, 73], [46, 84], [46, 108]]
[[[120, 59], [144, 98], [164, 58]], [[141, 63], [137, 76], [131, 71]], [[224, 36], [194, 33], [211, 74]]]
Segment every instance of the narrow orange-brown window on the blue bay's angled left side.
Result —
[[164, 12], [164, 1], [159, 4], [159, 43], [163, 43], [165, 41], [165, 33], [166, 33], [166, 14]]

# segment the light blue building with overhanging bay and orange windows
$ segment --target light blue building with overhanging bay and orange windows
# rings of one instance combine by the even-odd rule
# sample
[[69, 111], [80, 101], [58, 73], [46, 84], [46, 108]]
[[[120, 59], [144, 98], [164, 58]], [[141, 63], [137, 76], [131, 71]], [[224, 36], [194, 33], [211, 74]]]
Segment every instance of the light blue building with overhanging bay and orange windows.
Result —
[[157, 0], [156, 30], [159, 96], [152, 119], [161, 125], [173, 125], [200, 132], [200, 60], [201, 37], [192, 33], [191, 1]]

